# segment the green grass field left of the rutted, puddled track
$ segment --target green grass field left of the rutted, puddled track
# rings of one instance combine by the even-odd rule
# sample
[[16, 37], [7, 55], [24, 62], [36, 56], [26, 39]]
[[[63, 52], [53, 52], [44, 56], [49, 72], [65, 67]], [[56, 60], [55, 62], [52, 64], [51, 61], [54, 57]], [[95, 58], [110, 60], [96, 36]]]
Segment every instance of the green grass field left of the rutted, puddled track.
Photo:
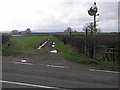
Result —
[[29, 52], [45, 39], [47, 39], [46, 36], [12, 37], [11, 45], [7, 49], [3, 50], [3, 55], [13, 55]]

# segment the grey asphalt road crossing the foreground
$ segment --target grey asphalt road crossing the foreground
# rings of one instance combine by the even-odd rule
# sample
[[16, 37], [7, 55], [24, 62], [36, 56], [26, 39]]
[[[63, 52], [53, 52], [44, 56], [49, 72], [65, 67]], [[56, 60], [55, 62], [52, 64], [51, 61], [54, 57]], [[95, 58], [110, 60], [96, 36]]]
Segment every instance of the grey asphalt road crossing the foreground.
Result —
[[2, 62], [3, 88], [118, 88], [118, 74], [54, 65]]

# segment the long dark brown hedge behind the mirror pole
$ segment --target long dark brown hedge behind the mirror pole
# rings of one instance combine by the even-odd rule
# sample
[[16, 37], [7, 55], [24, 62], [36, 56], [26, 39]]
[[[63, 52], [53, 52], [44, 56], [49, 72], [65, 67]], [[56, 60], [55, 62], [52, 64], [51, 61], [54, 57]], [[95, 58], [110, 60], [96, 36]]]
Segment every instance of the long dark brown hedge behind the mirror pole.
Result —
[[[64, 44], [76, 48], [79, 54], [85, 54], [85, 35], [54, 35]], [[93, 37], [87, 38], [87, 56], [92, 57]], [[108, 48], [118, 47], [118, 35], [96, 35], [96, 54], [104, 56]]]

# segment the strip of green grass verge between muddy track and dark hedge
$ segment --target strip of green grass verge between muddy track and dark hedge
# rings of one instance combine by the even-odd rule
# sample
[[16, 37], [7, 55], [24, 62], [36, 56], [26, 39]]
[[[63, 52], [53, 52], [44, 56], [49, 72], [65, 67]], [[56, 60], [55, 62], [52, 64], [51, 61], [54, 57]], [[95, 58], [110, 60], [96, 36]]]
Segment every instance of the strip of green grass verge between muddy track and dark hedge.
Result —
[[82, 64], [92, 64], [98, 69], [114, 70], [119, 71], [120, 62], [102, 61], [88, 58], [84, 55], [79, 55], [74, 48], [70, 45], [64, 45], [62, 41], [57, 38], [53, 38], [56, 42], [56, 48], [64, 55], [68, 60], [82, 63]]

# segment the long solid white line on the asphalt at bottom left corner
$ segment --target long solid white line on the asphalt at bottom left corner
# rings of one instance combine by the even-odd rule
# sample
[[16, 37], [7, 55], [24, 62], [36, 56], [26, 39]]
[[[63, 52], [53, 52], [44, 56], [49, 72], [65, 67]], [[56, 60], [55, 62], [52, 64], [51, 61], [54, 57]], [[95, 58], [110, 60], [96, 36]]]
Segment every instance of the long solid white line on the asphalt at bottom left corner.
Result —
[[57, 88], [57, 87], [35, 85], [35, 84], [28, 84], [28, 83], [20, 83], [20, 82], [12, 82], [12, 81], [3, 81], [3, 80], [0, 80], [0, 82], [2, 82], [2, 83], [8, 83], [8, 84], [23, 85], [23, 86], [31, 86], [31, 87], [37, 87], [37, 88], [60, 89], [60, 88]]

